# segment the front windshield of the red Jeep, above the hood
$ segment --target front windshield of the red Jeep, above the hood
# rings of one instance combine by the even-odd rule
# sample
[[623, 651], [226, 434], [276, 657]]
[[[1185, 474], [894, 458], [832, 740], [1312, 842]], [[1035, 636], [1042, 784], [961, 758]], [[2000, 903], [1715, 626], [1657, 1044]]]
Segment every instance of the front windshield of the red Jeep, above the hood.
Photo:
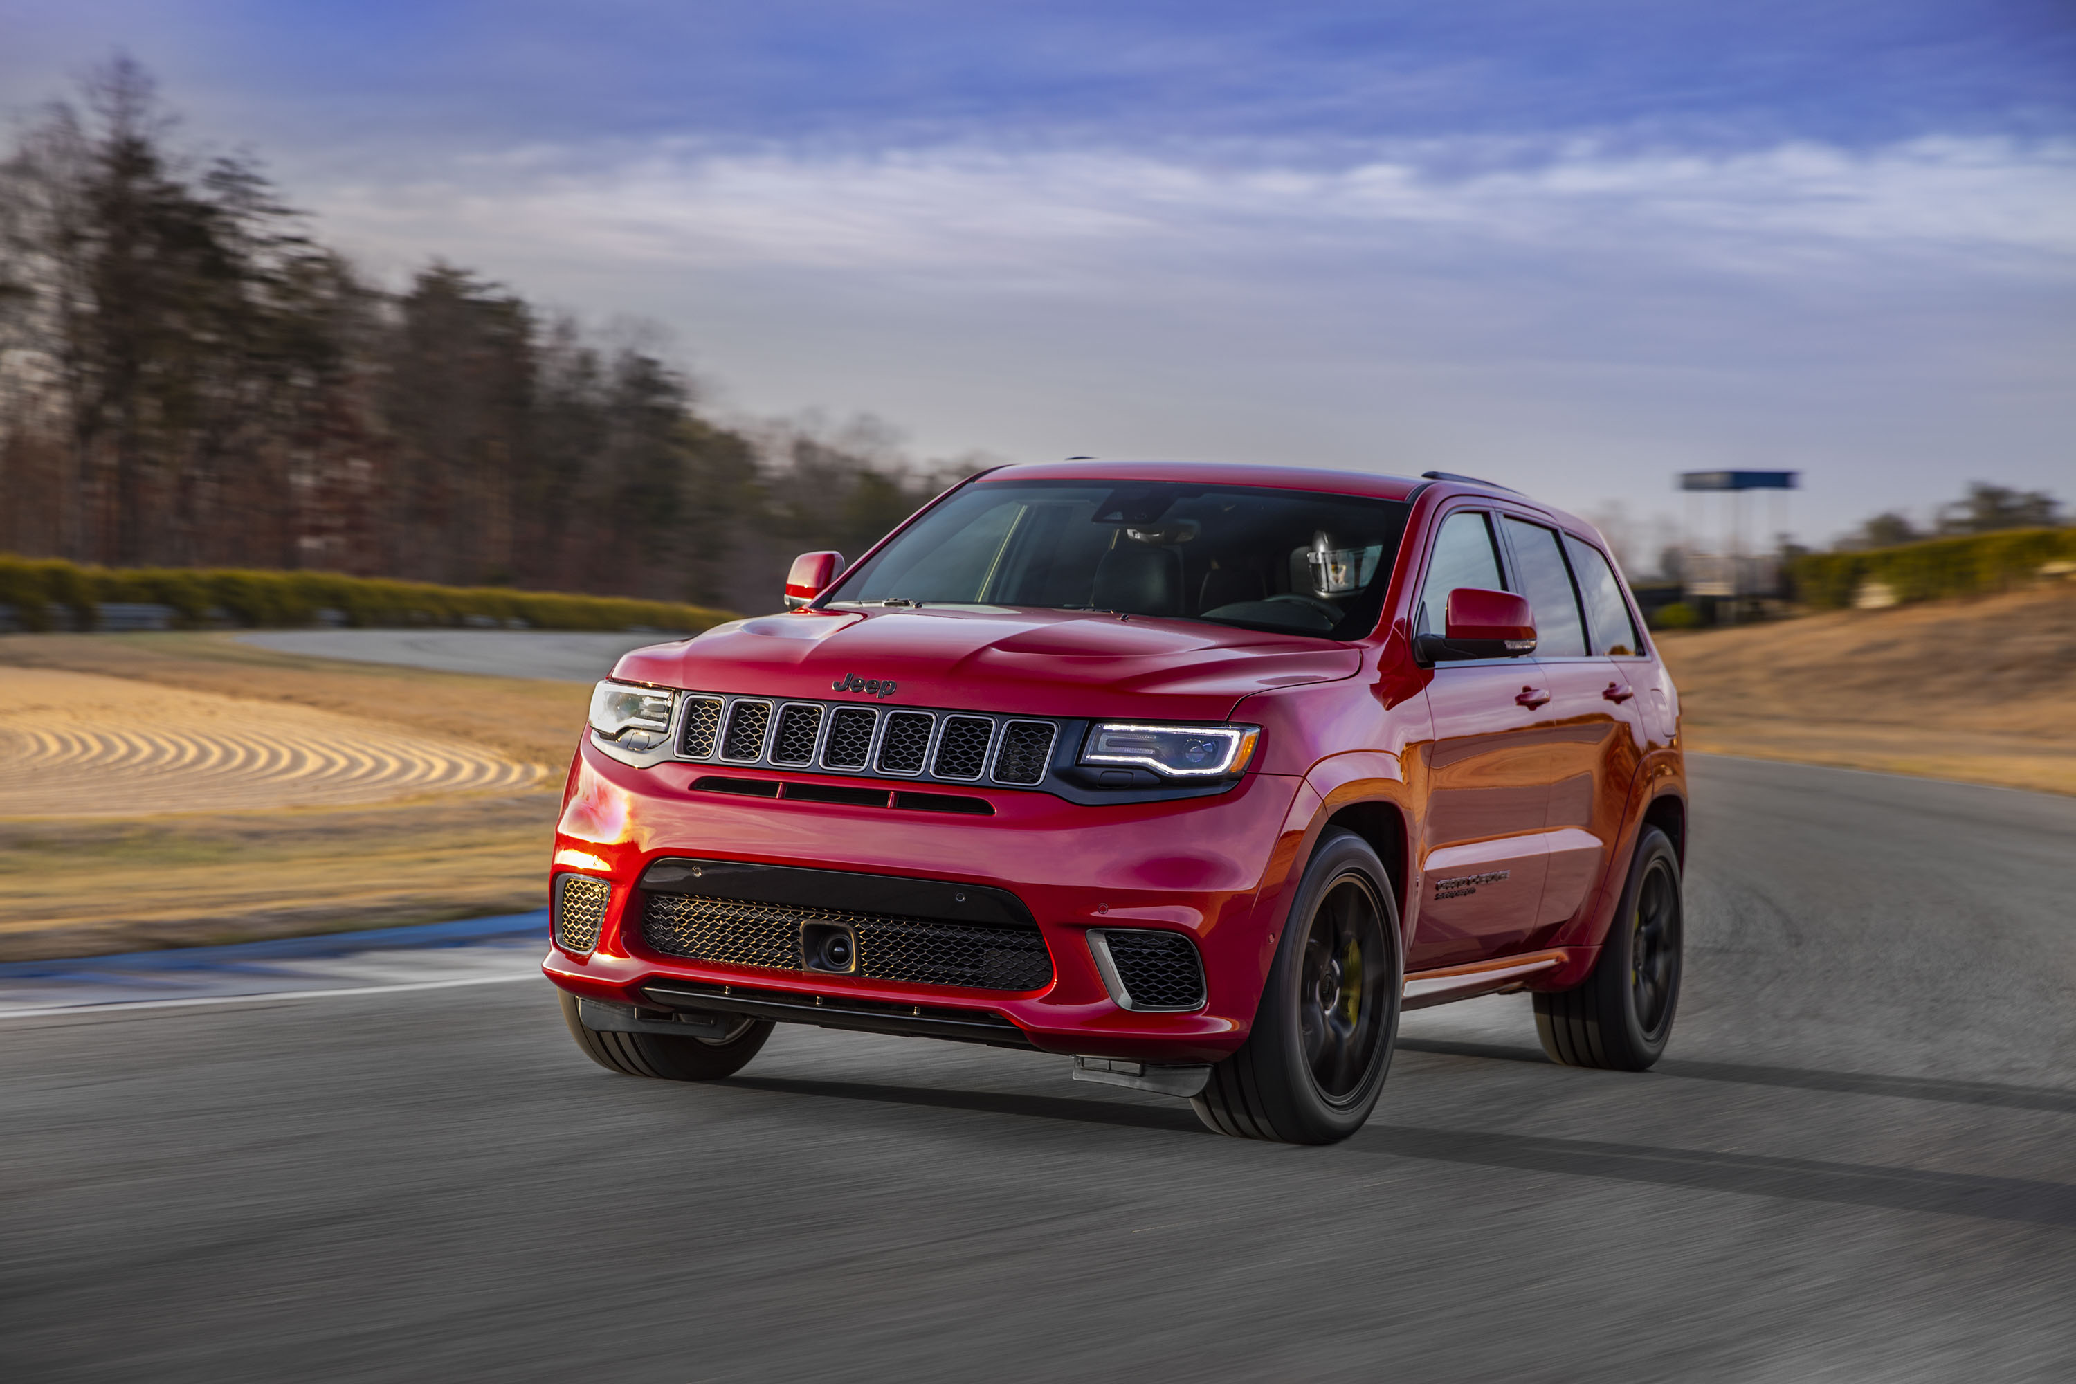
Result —
[[845, 573], [828, 604], [1107, 610], [1362, 639], [1408, 513], [1252, 486], [978, 481]]

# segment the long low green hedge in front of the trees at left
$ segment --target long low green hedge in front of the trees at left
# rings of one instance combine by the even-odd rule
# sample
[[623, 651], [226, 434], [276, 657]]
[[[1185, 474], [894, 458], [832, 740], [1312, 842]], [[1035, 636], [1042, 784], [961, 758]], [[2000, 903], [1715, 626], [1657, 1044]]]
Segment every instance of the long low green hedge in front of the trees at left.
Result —
[[220, 610], [237, 625], [313, 625], [336, 610], [347, 625], [465, 625], [488, 616], [534, 629], [702, 631], [733, 620], [727, 610], [619, 596], [563, 596], [509, 587], [440, 587], [334, 573], [270, 573], [195, 566], [79, 566], [52, 558], [0, 554], [0, 604], [15, 606], [25, 629], [50, 629], [50, 606], [71, 606], [75, 629], [93, 629], [100, 602], [172, 606], [187, 629]]

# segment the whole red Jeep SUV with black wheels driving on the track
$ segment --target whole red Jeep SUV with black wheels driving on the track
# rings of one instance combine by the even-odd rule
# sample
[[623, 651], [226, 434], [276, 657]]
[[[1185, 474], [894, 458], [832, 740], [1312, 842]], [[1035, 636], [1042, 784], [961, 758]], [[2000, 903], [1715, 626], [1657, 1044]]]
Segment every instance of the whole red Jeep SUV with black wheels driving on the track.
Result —
[[1401, 1008], [1532, 990], [1559, 1062], [1663, 1052], [1679, 703], [1590, 525], [1435, 471], [1003, 467], [785, 598], [592, 697], [544, 969], [600, 1064], [816, 1023], [1324, 1143]]

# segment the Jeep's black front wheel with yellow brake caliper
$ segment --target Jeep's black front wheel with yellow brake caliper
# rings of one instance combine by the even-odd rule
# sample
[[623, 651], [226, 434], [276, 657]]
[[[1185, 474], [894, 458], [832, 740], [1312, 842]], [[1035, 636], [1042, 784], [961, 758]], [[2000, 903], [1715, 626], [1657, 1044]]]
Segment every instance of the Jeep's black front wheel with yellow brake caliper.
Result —
[[1335, 1143], [1376, 1108], [1405, 963], [1391, 878], [1362, 836], [1320, 836], [1239, 1052], [1190, 1104], [1221, 1135]]

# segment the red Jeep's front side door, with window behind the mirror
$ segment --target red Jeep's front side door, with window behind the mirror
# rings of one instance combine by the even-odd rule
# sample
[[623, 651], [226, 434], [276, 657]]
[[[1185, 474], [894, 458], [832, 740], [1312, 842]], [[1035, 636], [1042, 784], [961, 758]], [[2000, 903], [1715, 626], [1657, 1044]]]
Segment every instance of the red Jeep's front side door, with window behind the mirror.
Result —
[[[1443, 633], [1445, 602], [1457, 587], [1518, 589], [1507, 585], [1484, 510], [1447, 510], [1435, 521], [1416, 633]], [[1528, 658], [1432, 670], [1426, 697], [1435, 739], [1408, 971], [1480, 961], [1534, 925], [1549, 865], [1549, 768], [1547, 718], [1532, 705], [1532, 691], [1536, 666]]]

